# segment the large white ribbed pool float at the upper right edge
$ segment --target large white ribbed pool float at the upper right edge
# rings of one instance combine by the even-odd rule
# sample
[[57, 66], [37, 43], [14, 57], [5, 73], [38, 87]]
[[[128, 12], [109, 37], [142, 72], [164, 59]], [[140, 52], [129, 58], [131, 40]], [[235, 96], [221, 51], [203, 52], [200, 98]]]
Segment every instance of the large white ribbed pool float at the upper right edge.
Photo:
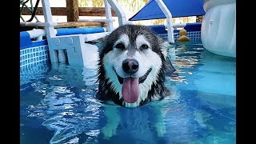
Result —
[[204, 0], [202, 44], [214, 54], [236, 58], [236, 0]]

